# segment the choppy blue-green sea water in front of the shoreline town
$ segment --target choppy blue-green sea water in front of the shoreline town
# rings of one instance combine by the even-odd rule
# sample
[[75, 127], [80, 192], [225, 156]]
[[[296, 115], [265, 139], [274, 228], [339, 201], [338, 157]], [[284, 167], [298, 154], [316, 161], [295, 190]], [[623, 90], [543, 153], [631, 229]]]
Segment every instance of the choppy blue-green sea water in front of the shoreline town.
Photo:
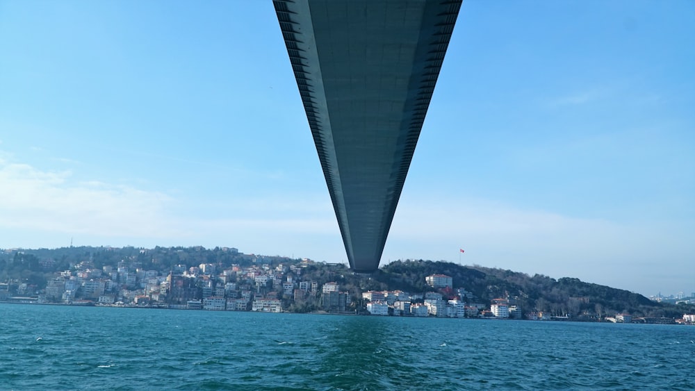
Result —
[[695, 327], [0, 304], [0, 390], [695, 390]]

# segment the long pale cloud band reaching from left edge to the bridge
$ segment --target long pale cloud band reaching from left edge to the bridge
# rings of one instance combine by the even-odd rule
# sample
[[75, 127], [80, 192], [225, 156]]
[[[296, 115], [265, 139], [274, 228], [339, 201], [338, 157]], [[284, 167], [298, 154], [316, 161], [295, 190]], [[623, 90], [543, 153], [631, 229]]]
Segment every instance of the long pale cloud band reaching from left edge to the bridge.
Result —
[[257, 253], [344, 258], [328, 197], [270, 194], [183, 203], [161, 192], [76, 181], [70, 171], [11, 160], [0, 160], [0, 247], [57, 247], [74, 236], [76, 244], [97, 246], [234, 245]]

